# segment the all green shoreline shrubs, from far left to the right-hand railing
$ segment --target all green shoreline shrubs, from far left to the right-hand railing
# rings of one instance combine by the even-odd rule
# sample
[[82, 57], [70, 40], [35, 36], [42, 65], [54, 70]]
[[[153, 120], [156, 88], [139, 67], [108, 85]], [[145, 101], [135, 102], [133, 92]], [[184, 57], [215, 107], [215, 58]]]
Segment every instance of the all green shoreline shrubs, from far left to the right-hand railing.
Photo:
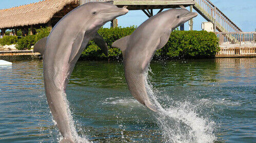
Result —
[[[122, 57], [119, 49], [111, 47], [112, 43], [121, 37], [130, 35], [136, 29], [132, 27], [101, 28], [98, 33], [106, 41], [109, 51], [106, 57], [100, 48], [89, 41], [83, 51], [80, 60], [116, 60]], [[41, 28], [36, 30], [37, 34], [25, 37], [4, 36], [0, 39], [0, 45], [16, 44], [17, 50], [30, 50], [33, 45], [50, 33], [50, 29]], [[19, 36], [19, 35], [18, 35]], [[179, 31], [171, 33], [168, 43], [154, 56], [154, 59], [172, 59], [172, 58], [211, 58], [220, 50], [218, 38], [213, 32], [206, 31]]]

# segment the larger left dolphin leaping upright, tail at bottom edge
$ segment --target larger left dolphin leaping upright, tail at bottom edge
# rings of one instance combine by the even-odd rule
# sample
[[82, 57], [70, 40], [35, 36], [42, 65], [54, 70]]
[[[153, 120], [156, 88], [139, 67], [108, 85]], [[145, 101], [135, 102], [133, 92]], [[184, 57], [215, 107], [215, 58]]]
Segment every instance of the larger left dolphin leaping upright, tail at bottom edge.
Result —
[[63, 136], [60, 142], [76, 142], [71, 129], [74, 123], [70, 120], [66, 86], [78, 58], [92, 39], [107, 55], [107, 44], [97, 31], [106, 22], [127, 12], [126, 6], [118, 8], [109, 3], [86, 3], [65, 15], [48, 37], [34, 45], [34, 51], [43, 55], [45, 92], [50, 111]]

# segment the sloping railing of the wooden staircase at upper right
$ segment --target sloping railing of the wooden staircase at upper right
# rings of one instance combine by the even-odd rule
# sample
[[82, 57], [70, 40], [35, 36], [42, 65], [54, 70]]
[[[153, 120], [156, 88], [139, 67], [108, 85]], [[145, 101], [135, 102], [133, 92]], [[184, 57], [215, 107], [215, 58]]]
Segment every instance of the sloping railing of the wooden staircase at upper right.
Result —
[[220, 32], [242, 32], [225, 14], [208, 0], [194, 0], [195, 9], [205, 15], [205, 18], [215, 23]]

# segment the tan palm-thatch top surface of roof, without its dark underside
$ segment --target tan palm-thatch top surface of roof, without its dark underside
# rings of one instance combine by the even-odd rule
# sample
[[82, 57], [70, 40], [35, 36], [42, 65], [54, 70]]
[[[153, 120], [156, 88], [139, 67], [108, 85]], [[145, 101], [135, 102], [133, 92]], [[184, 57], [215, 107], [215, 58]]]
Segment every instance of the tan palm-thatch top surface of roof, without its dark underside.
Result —
[[0, 29], [47, 23], [66, 5], [79, 0], [45, 0], [38, 3], [0, 10]]

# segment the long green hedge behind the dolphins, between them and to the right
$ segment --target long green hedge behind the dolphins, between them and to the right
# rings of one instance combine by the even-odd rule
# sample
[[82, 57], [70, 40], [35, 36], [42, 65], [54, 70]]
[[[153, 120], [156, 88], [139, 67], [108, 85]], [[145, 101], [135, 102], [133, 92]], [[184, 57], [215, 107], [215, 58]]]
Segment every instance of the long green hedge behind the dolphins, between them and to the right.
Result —
[[[112, 48], [115, 40], [131, 35], [136, 27], [126, 28], [101, 28], [98, 33], [108, 45], [108, 58], [116, 59], [121, 57], [119, 49]], [[171, 33], [168, 43], [158, 50], [154, 58], [204, 58], [213, 57], [219, 51], [218, 38], [213, 32], [206, 31], [178, 31]], [[81, 58], [101, 59], [105, 55], [99, 47], [90, 41], [86, 46]]]

